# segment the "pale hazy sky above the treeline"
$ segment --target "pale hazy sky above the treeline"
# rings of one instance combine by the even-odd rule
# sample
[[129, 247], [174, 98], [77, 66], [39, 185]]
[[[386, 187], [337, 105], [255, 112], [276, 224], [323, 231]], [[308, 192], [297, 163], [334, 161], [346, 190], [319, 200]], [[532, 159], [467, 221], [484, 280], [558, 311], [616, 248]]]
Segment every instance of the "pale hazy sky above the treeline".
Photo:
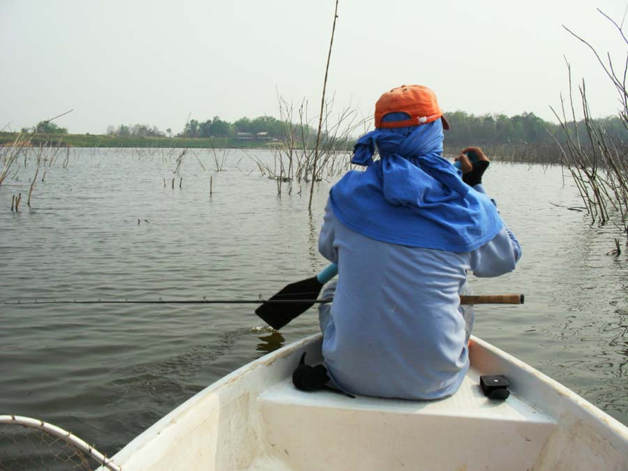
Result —
[[[567, 68], [592, 114], [618, 102], [590, 50], [561, 24], [627, 53], [595, 8], [622, 21], [628, 0], [340, 0], [328, 93], [364, 117], [383, 91], [424, 84], [447, 110], [553, 119]], [[59, 126], [179, 132], [193, 119], [278, 117], [277, 93], [317, 114], [334, 0], [0, 0], [0, 130], [70, 108]], [[627, 20], [628, 23], [628, 20]], [[626, 29], [626, 28], [625, 28]]]

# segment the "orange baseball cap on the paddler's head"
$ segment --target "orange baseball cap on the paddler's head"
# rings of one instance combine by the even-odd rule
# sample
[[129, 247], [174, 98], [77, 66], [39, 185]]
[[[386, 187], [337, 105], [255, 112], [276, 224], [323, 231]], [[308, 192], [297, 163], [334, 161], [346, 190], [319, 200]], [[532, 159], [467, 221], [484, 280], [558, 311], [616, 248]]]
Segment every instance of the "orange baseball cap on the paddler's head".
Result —
[[[389, 113], [402, 112], [410, 116], [403, 121], [383, 121]], [[404, 128], [431, 123], [441, 119], [442, 127], [449, 129], [449, 121], [442, 115], [436, 95], [423, 85], [401, 85], [387, 91], [375, 103], [375, 128]]]

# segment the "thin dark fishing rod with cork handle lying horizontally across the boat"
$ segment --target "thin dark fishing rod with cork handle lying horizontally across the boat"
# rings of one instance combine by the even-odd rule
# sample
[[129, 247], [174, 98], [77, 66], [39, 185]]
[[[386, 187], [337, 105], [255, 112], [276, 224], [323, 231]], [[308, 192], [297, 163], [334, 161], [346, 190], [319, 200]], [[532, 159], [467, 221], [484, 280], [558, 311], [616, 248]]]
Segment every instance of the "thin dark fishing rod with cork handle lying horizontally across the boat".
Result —
[[[301, 294], [307, 295], [303, 292]], [[159, 299], [158, 301], [128, 301], [127, 299], [97, 299], [96, 301], [73, 301], [47, 299], [43, 301], [4, 301], [8, 306], [31, 306], [33, 304], [327, 304], [333, 299]], [[523, 294], [484, 294], [461, 296], [460, 304], [523, 304]]]

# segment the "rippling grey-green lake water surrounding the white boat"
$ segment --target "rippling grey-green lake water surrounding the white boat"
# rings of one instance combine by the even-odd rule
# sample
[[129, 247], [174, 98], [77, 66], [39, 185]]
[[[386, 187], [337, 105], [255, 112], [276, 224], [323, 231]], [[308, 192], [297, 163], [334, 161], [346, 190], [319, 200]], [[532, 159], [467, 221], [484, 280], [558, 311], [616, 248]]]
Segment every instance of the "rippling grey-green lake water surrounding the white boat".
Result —
[[[309, 214], [305, 184], [278, 197], [257, 170], [251, 156], [271, 161], [268, 151], [229, 151], [217, 172], [213, 154], [190, 150], [175, 176], [178, 155], [63, 151], [40, 168], [30, 208], [36, 165], [20, 158], [0, 186], [0, 302], [257, 299], [327, 265], [317, 234], [330, 181]], [[493, 163], [484, 181], [523, 257], [507, 276], [472, 279], [474, 292], [526, 302], [477, 306], [474, 334], [628, 424], [627, 257], [605, 255], [619, 231], [551, 204], [581, 206], [558, 167]], [[107, 454], [211, 382], [317, 331], [313, 310], [276, 332], [251, 305], [0, 310], [0, 414], [50, 421]]]

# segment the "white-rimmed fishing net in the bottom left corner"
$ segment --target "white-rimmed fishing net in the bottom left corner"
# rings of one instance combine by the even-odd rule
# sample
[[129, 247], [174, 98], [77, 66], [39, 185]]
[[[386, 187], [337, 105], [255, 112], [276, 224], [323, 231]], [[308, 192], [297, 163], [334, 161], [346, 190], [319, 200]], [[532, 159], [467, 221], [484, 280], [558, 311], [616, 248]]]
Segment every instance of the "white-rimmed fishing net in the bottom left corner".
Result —
[[44, 421], [0, 415], [0, 471], [93, 470], [119, 466], [80, 438]]

